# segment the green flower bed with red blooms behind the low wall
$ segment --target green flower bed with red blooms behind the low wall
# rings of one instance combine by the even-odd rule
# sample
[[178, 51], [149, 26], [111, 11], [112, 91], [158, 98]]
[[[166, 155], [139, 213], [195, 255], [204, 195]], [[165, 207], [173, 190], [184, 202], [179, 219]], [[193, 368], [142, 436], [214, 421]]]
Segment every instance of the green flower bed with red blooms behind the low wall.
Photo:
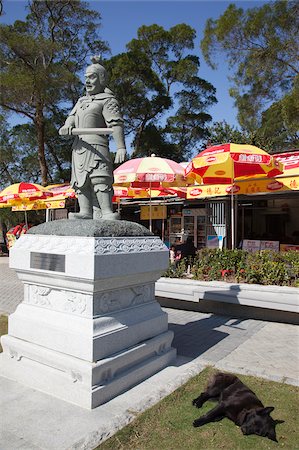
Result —
[[164, 277], [299, 287], [299, 252], [202, 249], [170, 266]]

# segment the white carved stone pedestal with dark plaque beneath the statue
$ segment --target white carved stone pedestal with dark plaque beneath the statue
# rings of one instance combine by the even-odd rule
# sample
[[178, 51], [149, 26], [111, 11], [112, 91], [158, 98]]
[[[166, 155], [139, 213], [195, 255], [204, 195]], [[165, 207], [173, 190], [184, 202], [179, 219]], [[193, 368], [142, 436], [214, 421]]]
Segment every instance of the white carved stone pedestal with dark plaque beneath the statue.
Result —
[[[90, 235], [99, 233], [94, 227], [82, 236], [78, 222], [64, 224], [61, 235], [44, 228], [26, 234], [12, 249], [10, 267], [24, 283], [24, 301], [1, 339], [0, 375], [95, 408], [176, 356], [154, 295], [168, 249], [134, 226], [131, 236]], [[71, 231], [80, 235], [66, 235]]]

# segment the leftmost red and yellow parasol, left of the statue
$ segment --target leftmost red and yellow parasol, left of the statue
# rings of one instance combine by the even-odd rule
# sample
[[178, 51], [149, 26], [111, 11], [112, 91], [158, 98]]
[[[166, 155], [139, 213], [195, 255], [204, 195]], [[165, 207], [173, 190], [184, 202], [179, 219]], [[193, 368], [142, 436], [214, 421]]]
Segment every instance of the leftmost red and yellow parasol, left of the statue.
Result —
[[43, 186], [35, 183], [16, 183], [8, 186], [0, 192], [0, 203], [13, 205], [22, 201], [31, 201], [52, 197]]

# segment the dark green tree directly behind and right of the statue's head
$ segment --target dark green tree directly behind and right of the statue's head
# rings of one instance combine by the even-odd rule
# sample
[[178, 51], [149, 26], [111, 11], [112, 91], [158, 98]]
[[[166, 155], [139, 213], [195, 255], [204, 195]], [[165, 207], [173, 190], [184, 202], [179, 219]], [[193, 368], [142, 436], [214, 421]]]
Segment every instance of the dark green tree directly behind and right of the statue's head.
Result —
[[110, 86], [133, 135], [133, 156], [173, 151], [182, 160], [205, 137], [215, 88], [198, 76], [199, 59], [188, 53], [194, 39], [195, 30], [186, 24], [168, 31], [144, 25], [126, 53], [107, 61]]

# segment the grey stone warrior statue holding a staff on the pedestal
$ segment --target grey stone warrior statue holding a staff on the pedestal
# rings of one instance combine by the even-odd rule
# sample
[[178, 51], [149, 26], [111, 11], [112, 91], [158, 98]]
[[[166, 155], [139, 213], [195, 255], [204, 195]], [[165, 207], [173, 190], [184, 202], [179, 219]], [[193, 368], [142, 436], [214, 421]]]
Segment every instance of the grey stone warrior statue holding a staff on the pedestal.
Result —
[[116, 143], [115, 162], [122, 163], [126, 156], [123, 119], [113, 92], [106, 87], [107, 73], [99, 60], [91, 58], [85, 72], [87, 95], [79, 98], [59, 130], [60, 135], [77, 134], [72, 147], [71, 186], [78, 195], [80, 212], [70, 213], [70, 219], [119, 218], [112, 207], [113, 165], [107, 134], [111, 132]]

